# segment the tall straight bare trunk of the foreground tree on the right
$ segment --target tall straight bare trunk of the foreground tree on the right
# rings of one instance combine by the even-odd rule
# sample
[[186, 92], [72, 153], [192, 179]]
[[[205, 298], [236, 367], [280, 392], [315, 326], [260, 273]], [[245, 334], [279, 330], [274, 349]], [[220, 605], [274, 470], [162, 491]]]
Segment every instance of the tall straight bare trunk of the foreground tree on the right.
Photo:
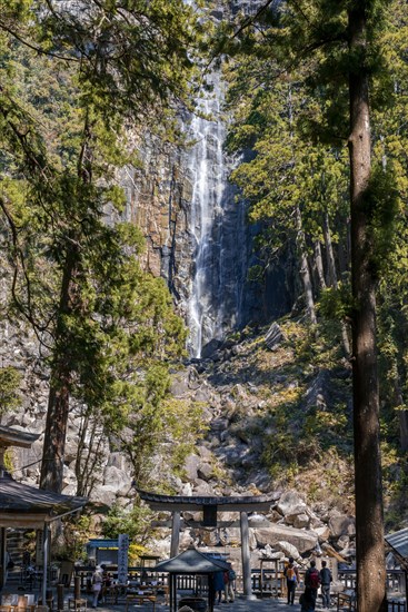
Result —
[[371, 174], [366, 2], [349, 10], [351, 274], [356, 312], [352, 327], [354, 430], [356, 482], [357, 600], [359, 612], [386, 610], [386, 567], [379, 397], [376, 346], [376, 282], [367, 218]]

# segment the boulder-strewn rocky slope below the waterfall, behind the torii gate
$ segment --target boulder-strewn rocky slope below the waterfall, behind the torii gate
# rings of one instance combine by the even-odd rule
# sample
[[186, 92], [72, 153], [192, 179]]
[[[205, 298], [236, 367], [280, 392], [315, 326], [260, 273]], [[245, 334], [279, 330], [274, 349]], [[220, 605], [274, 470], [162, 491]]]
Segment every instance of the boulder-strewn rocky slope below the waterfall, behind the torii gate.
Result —
[[[348, 396], [349, 377], [347, 369], [312, 368], [299, 361], [305, 334], [292, 322], [275, 325], [269, 334], [242, 334], [173, 372], [173, 397], [180, 402], [193, 397], [200, 403], [203, 428], [178, 475], [158, 471], [157, 488], [170, 486], [185, 495], [272, 494], [276, 503], [270, 512], [250, 517], [255, 564], [272, 552], [299, 560], [325, 549], [346, 560], [354, 554], [350, 458], [341, 447], [345, 441], [335, 443], [344, 426], [337, 423], [338, 404]], [[32, 366], [24, 368], [23, 413], [9, 415], [3, 424], [42, 434], [47, 379], [36, 369], [36, 343], [28, 335], [20, 340], [18, 336], [9, 338], [14, 352], [10, 363], [17, 367], [30, 364], [31, 348]], [[11, 344], [3, 358], [6, 353], [10, 358]], [[317, 413], [326, 415], [326, 430], [315, 430], [308, 438]], [[77, 487], [79, 430], [78, 409], [71, 414], [67, 444], [63, 492], [68, 494]], [[13, 453], [14, 477], [38, 484], [41, 445], [42, 436], [31, 451]], [[102, 512], [113, 505], [130, 509], [136, 492], [126, 455], [112, 452], [106, 440], [103, 456], [92, 502]], [[200, 516], [185, 513], [181, 545], [223, 546], [239, 566], [238, 515], [223, 513], [221, 520], [230, 526], [218, 530], [190, 527], [192, 520]], [[168, 555], [170, 530], [160, 529], [150, 545]]]

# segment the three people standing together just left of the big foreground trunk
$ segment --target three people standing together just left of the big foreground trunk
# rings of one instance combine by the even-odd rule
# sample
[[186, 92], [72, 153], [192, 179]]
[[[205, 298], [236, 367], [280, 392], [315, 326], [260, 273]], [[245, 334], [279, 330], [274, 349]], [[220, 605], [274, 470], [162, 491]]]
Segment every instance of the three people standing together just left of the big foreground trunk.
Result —
[[[292, 556], [289, 557], [289, 563], [285, 567], [283, 575], [286, 578], [286, 585], [288, 591], [288, 605], [293, 605], [296, 586], [299, 584], [300, 579], [299, 570]], [[321, 588], [322, 606], [329, 609], [331, 582], [332, 575], [329, 567], [327, 566], [327, 562], [321, 562], [321, 570], [319, 571], [316, 567], [316, 561], [310, 561], [310, 567], [308, 567], [305, 574], [305, 591], [299, 599], [301, 612], [315, 611], [319, 586]]]

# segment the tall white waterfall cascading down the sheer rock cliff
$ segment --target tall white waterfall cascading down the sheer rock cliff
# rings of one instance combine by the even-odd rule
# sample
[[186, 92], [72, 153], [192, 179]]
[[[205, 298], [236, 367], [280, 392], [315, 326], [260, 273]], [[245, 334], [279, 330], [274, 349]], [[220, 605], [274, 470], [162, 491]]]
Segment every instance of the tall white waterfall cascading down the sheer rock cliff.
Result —
[[247, 268], [243, 204], [228, 182], [231, 162], [223, 151], [226, 126], [220, 75], [210, 77], [211, 92], [198, 102], [189, 126], [187, 159], [191, 181], [190, 234], [192, 278], [188, 303], [189, 351], [221, 340], [239, 325]]

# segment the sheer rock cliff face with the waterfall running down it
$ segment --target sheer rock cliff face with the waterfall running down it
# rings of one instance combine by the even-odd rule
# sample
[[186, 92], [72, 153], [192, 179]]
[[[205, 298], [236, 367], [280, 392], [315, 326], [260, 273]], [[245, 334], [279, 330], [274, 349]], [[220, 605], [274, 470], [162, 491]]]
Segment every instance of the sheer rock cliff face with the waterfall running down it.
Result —
[[[238, 9], [249, 10], [232, 2], [230, 10]], [[213, 11], [213, 19], [221, 17], [221, 9]], [[197, 112], [180, 117], [186, 148], [151, 138], [140, 150], [143, 168], [125, 168], [120, 176], [126, 217], [142, 228], [147, 265], [167, 279], [188, 324], [193, 357], [211, 339], [249, 322], [265, 323], [288, 306], [281, 273], [265, 285], [248, 282], [256, 229], [247, 225], [246, 203], [228, 180], [233, 161], [223, 149], [228, 118], [220, 72], [208, 76], [207, 86]]]

